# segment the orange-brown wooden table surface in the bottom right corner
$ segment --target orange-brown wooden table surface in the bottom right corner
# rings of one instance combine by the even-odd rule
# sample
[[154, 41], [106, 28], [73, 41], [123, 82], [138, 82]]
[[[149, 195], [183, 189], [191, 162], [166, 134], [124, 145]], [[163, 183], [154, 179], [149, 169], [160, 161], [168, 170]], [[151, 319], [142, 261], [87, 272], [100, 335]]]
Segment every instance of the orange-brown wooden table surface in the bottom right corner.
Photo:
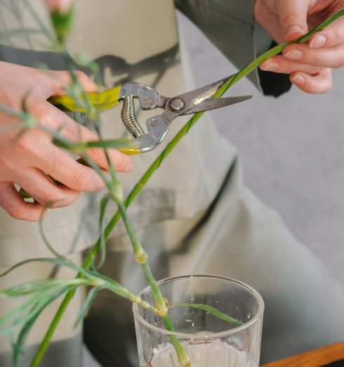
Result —
[[319, 367], [344, 359], [344, 342], [298, 354], [261, 367]]

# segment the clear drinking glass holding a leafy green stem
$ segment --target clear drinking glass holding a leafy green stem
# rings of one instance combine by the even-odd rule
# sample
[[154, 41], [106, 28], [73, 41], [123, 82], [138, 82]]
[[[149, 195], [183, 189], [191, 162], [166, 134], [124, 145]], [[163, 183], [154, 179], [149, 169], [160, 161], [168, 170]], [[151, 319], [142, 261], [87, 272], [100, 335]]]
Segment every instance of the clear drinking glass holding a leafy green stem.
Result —
[[[242, 321], [228, 323], [192, 307], [173, 307], [168, 314], [175, 328], [151, 311], [133, 304], [140, 367], [180, 367], [169, 337], [178, 337], [192, 367], [259, 366], [264, 302], [249, 285], [220, 276], [180, 276], [159, 281], [168, 304], [206, 304]], [[140, 294], [154, 304], [150, 288]]]

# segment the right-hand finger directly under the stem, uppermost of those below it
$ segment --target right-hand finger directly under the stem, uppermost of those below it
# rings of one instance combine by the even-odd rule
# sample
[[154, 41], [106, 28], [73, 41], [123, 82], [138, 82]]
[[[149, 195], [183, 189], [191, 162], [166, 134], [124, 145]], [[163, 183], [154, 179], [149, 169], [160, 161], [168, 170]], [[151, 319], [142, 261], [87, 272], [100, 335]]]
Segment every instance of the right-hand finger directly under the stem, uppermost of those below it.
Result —
[[311, 49], [320, 47], [337, 46], [344, 43], [344, 20], [338, 19], [333, 25], [322, 32], [317, 32], [310, 37], [308, 42]]

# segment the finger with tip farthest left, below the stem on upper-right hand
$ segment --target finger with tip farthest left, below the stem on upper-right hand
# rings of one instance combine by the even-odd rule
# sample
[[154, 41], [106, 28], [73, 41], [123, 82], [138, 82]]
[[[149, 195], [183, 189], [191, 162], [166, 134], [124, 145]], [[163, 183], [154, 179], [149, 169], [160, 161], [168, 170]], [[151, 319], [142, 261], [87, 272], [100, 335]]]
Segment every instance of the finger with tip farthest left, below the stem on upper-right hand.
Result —
[[274, 56], [269, 60], [264, 61], [260, 65], [261, 70], [270, 72], [279, 72], [282, 74], [291, 74], [292, 72], [303, 71], [310, 75], [317, 74], [321, 67], [315, 67], [298, 63], [298, 61], [287, 60], [283, 56]]

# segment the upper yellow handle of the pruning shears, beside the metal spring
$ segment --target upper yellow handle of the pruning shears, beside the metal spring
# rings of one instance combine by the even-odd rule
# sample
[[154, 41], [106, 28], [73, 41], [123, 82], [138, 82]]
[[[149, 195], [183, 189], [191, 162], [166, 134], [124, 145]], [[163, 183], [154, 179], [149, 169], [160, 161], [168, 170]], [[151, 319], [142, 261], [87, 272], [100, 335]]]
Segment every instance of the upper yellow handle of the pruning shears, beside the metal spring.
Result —
[[[121, 84], [101, 92], [85, 92], [85, 94], [80, 94], [78, 96], [80, 99], [79, 103], [75, 98], [67, 94], [62, 96], [51, 96], [48, 98], [48, 102], [60, 108], [60, 110], [67, 110], [70, 112], [87, 112], [84, 104], [89, 101], [95, 108], [100, 111], [104, 111], [119, 103], [120, 92]], [[84, 95], [88, 97], [88, 101], [85, 101]]]

